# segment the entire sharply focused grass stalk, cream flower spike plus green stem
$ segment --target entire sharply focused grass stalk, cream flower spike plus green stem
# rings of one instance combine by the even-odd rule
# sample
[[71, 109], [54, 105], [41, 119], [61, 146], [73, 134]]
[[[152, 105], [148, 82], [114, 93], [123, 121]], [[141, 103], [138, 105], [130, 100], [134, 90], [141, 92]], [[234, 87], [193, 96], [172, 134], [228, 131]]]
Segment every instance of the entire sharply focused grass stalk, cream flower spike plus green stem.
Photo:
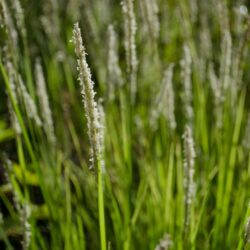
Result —
[[102, 169], [102, 137], [100, 125], [100, 111], [98, 111], [95, 102], [94, 82], [91, 80], [91, 73], [86, 61], [86, 52], [82, 43], [81, 30], [79, 24], [76, 23], [73, 29], [73, 43], [75, 45], [75, 53], [78, 58], [77, 68], [79, 72], [79, 81], [82, 87], [83, 104], [86, 112], [88, 123], [88, 136], [91, 150], [91, 165], [97, 172], [98, 178], [98, 211], [101, 249], [106, 250], [106, 232], [105, 232], [105, 212], [103, 198], [103, 169]]

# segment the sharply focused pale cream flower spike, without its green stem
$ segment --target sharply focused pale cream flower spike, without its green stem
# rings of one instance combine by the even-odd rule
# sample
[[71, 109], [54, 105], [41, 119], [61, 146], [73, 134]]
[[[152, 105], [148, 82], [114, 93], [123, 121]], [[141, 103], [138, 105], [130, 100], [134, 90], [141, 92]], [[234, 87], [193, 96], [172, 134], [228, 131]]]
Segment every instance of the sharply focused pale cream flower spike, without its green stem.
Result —
[[102, 155], [100, 113], [95, 101], [94, 82], [91, 79], [91, 72], [86, 60], [86, 51], [82, 43], [81, 30], [76, 23], [73, 29], [73, 43], [77, 56], [77, 70], [79, 73], [79, 82], [82, 87], [83, 104], [87, 118], [88, 136], [90, 141], [91, 166], [96, 168]]

